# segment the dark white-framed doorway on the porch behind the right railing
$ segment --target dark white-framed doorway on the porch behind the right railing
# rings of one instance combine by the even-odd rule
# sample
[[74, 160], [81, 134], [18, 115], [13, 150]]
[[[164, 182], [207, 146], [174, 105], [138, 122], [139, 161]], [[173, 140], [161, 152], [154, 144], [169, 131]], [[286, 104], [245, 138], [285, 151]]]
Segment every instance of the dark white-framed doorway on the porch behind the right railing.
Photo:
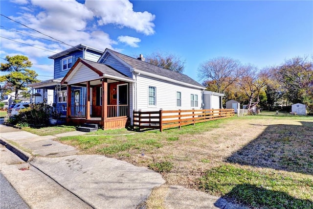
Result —
[[117, 85], [117, 116], [128, 116], [128, 84]]

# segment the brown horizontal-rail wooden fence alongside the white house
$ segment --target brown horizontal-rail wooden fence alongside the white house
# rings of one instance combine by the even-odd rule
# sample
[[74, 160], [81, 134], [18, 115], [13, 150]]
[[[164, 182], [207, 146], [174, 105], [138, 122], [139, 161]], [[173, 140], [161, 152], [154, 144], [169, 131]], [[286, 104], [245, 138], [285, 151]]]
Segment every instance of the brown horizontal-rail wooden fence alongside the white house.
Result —
[[184, 125], [218, 120], [235, 116], [234, 109], [216, 110], [159, 110], [159, 111], [134, 111], [134, 127], [140, 129], [160, 129], [181, 127]]

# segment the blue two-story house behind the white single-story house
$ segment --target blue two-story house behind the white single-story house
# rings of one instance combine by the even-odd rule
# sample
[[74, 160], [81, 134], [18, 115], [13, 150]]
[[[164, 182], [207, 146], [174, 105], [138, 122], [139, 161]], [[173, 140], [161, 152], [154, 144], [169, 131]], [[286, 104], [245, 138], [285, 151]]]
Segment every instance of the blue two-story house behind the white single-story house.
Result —
[[[49, 56], [50, 59], [54, 60], [54, 78], [29, 85], [29, 87], [31, 87], [33, 91], [34, 102], [40, 103], [42, 100], [46, 99], [47, 104], [50, 104], [50, 102], [53, 101], [51, 105], [53, 105], [54, 111], [66, 116], [67, 87], [66, 85], [61, 85], [61, 80], [67, 74], [68, 70], [70, 70], [74, 63], [78, 60], [78, 58], [97, 61], [102, 53], [103, 51], [99, 49], [80, 44], [60, 53]], [[86, 88], [76, 86], [75, 88], [73, 87], [73, 90], [74, 89], [80, 91], [80, 102], [82, 104], [85, 104], [83, 94]], [[51, 96], [49, 95], [51, 95], [52, 91], [53, 94], [51, 98]], [[38, 92], [40, 92], [41, 96], [39, 96]]]

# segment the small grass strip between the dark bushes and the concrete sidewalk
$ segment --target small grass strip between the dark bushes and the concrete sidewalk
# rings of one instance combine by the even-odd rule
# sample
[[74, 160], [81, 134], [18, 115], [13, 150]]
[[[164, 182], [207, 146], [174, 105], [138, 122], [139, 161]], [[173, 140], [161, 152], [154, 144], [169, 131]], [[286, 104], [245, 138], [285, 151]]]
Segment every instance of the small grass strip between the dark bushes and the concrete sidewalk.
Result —
[[48, 126], [48, 127], [42, 127], [42, 128], [22, 127], [22, 130], [30, 132], [32, 134], [36, 134], [38, 136], [55, 135], [55, 134], [76, 131], [75, 126], [66, 126], [66, 125]]

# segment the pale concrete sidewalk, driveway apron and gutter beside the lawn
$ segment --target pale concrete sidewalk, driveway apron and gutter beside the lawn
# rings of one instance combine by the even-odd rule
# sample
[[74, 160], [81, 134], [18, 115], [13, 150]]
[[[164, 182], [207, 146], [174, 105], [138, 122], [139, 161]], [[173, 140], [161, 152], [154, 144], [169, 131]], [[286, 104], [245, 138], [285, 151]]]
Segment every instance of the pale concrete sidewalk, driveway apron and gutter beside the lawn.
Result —
[[[53, 140], [82, 134], [40, 137], [0, 125], [0, 172], [34, 209], [145, 208], [152, 189], [165, 184], [162, 176], [105, 156], [79, 155], [74, 147]], [[25, 162], [10, 156], [6, 148]], [[244, 209], [182, 186], [169, 186], [164, 205], [168, 209]]]

